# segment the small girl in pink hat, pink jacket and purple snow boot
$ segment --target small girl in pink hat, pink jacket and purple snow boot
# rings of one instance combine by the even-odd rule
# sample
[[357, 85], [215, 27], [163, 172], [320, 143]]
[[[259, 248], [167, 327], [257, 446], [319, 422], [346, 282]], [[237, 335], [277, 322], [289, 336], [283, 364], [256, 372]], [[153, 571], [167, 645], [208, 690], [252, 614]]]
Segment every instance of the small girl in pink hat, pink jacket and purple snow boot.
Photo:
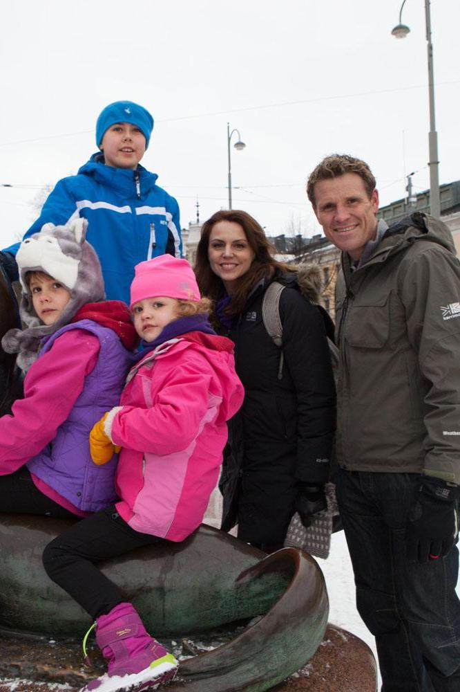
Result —
[[199, 527], [218, 482], [226, 421], [244, 397], [233, 344], [211, 329], [209, 300], [200, 298], [186, 260], [161, 255], [138, 264], [131, 311], [143, 349], [120, 405], [90, 435], [95, 464], [121, 448], [120, 500], [44, 551], [50, 578], [96, 620], [96, 641], [108, 660], [108, 673], [85, 692], [135, 691], [174, 677], [178, 662], [95, 563], [159, 540], [184, 540]]

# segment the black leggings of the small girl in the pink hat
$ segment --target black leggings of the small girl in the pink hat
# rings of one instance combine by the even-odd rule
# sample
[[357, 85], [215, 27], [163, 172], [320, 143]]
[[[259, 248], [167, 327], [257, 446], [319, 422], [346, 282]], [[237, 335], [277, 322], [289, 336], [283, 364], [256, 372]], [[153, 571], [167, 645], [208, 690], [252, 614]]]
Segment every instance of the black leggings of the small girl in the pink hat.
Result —
[[160, 540], [131, 529], [115, 505], [111, 505], [77, 522], [48, 543], [43, 563], [50, 579], [96, 619], [126, 598], [95, 563]]

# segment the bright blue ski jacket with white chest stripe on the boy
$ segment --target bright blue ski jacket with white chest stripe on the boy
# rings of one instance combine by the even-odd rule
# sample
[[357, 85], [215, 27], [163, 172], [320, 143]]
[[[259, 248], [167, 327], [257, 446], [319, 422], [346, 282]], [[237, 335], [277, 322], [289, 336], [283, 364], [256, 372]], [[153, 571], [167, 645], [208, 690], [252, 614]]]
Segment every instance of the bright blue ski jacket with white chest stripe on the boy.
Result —
[[[134, 171], [106, 166], [101, 152], [93, 154], [77, 175], [56, 184], [24, 238], [49, 222], [88, 219], [86, 239], [101, 262], [106, 298], [129, 304], [136, 264], [182, 253], [179, 206], [155, 184], [157, 177], [142, 166]], [[5, 251], [16, 255], [18, 248], [16, 243]]]

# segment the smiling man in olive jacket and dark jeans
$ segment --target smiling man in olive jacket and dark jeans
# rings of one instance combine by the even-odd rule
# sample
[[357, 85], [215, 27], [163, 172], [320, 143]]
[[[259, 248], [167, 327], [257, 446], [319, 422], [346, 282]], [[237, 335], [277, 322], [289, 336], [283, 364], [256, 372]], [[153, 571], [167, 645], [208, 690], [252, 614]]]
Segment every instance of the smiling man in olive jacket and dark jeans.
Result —
[[383, 691], [459, 692], [460, 264], [441, 221], [377, 221], [375, 185], [338, 154], [307, 185], [342, 251], [338, 502]]

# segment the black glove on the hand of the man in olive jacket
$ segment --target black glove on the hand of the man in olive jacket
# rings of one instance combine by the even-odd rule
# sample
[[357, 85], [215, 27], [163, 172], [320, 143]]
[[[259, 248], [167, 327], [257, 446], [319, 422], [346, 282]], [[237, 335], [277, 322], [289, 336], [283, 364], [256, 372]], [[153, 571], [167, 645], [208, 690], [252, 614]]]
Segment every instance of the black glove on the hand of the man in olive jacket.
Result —
[[406, 529], [410, 561], [428, 563], [448, 554], [459, 532], [459, 495], [459, 486], [449, 486], [439, 478], [421, 476]]

